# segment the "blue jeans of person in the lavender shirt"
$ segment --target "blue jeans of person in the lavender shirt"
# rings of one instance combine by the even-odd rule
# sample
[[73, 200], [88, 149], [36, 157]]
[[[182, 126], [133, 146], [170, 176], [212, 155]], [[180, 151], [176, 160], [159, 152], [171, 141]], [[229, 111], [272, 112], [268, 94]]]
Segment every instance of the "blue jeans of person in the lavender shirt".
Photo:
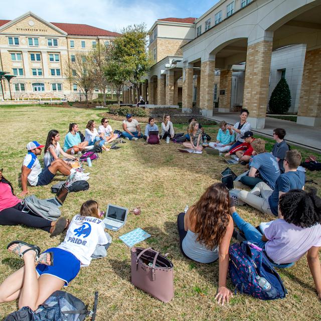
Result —
[[[232, 214], [233, 220], [237, 227], [244, 233], [247, 241], [257, 244], [263, 250], [265, 248], [265, 243], [262, 241], [262, 233], [260, 233], [252, 224], [245, 222], [236, 212]], [[275, 267], [286, 268], [292, 266], [294, 263], [289, 264], [276, 264], [269, 260], [270, 263]]]

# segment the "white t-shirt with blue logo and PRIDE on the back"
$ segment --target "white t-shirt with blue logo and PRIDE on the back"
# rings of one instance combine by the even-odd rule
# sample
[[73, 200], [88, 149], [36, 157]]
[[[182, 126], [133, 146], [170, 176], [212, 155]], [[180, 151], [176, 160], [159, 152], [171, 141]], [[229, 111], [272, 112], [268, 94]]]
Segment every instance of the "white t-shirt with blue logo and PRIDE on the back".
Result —
[[81, 262], [81, 266], [88, 266], [96, 246], [107, 243], [105, 224], [102, 220], [77, 214], [69, 224], [64, 241], [57, 248], [75, 255]]

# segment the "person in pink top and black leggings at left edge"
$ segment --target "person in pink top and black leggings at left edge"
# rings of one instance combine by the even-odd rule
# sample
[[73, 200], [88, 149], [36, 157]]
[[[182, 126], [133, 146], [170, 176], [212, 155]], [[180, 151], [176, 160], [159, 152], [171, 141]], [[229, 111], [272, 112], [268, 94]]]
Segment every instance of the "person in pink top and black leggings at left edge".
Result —
[[50, 236], [56, 236], [68, 226], [68, 220], [60, 217], [57, 221], [49, 221], [32, 212], [22, 212], [24, 205], [21, 199], [14, 194], [12, 184], [2, 175], [0, 169], [0, 225], [26, 225], [42, 229]]

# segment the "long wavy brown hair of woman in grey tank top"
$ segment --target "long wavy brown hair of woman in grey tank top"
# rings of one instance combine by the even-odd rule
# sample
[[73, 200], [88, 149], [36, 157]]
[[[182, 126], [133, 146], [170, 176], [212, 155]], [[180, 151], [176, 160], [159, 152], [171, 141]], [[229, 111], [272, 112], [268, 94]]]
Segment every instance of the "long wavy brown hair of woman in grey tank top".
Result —
[[208, 187], [191, 212], [195, 222], [197, 241], [208, 249], [221, 244], [230, 222], [230, 199], [228, 189], [221, 183]]

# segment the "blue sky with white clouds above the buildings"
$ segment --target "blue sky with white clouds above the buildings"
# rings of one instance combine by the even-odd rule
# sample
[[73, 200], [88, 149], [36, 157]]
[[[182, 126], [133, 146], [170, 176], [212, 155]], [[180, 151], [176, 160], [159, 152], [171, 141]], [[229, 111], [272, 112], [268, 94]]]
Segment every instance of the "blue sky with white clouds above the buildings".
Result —
[[0, 19], [13, 20], [31, 11], [49, 22], [87, 24], [109, 31], [157, 19], [199, 18], [219, 0], [0, 0]]

